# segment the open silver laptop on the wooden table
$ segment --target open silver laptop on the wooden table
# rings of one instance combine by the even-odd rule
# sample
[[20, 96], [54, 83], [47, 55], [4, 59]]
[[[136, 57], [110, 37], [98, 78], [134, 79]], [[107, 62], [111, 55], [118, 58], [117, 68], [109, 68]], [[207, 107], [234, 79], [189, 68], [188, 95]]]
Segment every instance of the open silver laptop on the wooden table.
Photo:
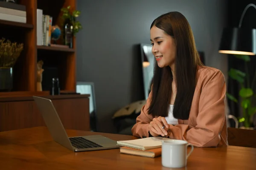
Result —
[[[102, 135], [68, 137], [50, 99], [33, 96], [53, 140], [74, 152], [119, 148], [117, 142]], [[88, 118], [89, 119], [89, 118]]]

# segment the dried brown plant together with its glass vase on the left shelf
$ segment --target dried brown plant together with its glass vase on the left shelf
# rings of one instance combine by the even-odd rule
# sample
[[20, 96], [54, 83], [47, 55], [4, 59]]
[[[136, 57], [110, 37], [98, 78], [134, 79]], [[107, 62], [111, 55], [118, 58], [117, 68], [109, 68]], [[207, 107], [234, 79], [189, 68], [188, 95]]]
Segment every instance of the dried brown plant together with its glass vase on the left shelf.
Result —
[[12, 90], [13, 66], [22, 50], [23, 43], [0, 40], [0, 91]]

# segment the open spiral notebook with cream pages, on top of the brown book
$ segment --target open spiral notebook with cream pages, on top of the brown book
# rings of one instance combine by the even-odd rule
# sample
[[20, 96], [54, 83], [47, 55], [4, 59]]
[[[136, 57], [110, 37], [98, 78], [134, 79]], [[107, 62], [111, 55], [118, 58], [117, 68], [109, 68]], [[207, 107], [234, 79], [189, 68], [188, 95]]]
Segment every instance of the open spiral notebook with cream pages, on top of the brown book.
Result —
[[120, 146], [130, 147], [138, 150], [149, 150], [149, 149], [162, 147], [163, 140], [169, 140], [169, 139], [157, 136], [157, 137], [148, 137], [148, 138], [141, 138], [141, 139], [126, 140], [126, 141], [117, 141], [117, 144]]

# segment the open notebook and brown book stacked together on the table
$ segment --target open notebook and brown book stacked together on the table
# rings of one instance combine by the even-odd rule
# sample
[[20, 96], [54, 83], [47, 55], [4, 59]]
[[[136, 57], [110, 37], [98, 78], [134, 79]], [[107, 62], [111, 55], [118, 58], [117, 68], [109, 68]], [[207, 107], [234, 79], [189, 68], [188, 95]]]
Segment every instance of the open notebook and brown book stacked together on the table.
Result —
[[120, 147], [120, 153], [155, 158], [161, 156], [163, 140], [168, 139], [163, 137], [148, 137], [142, 139], [117, 141], [117, 144], [122, 146]]

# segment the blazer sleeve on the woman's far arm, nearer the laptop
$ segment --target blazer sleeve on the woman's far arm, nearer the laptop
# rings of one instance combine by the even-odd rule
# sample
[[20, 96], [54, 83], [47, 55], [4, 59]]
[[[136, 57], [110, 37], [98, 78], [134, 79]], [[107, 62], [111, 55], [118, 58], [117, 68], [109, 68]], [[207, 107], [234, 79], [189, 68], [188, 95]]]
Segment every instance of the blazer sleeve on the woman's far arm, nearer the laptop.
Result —
[[149, 137], [148, 125], [153, 120], [153, 116], [148, 114], [151, 96], [152, 94], [150, 92], [146, 104], [141, 108], [140, 115], [136, 118], [135, 125], [131, 128], [133, 136], [137, 136], [140, 138]]

